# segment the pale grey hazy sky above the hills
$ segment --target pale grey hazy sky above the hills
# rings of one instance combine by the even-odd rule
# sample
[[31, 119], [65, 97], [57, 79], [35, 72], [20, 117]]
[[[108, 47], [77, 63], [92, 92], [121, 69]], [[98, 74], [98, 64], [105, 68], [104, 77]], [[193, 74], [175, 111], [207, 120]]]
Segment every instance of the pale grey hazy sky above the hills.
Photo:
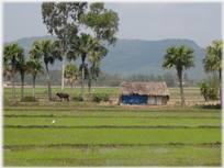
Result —
[[[43, 24], [41, 4], [41, 1], [2, 2], [2, 41], [49, 35]], [[105, 3], [105, 8], [119, 13], [119, 38], [187, 38], [201, 47], [222, 38], [221, 1], [111, 1]]]

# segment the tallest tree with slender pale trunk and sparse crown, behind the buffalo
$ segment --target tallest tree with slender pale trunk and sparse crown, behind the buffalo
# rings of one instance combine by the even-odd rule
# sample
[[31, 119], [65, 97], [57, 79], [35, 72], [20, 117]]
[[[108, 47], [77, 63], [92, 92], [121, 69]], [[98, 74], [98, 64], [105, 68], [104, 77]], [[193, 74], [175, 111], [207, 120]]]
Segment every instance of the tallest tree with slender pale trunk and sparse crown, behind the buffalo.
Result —
[[64, 93], [65, 55], [68, 42], [78, 33], [78, 21], [85, 12], [87, 2], [44, 2], [42, 4], [43, 22], [48, 33], [57, 35], [63, 52], [61, 92]]

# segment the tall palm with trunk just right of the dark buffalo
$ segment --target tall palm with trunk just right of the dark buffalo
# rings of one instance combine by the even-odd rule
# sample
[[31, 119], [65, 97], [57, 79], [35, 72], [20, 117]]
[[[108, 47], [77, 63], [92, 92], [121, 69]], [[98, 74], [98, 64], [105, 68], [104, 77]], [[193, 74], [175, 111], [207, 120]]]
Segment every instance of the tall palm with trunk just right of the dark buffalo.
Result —
[[82, 100], [85, 101], [85, 60], [86, 57], [89, 55], [91, 51], [94, 49], [97, 45], [100, 45], [101, 41], [93, 38], [90, 36], [90, 34], [81, 33], [81, 36], [77, 36], [75, 40], [71, 40], [69, 42], [69, 51], [67, 53], [67, 59], [77, 59], [79, 56], [81, 56], [82, 61], [82, 75], [81, 75], [81, 94]]

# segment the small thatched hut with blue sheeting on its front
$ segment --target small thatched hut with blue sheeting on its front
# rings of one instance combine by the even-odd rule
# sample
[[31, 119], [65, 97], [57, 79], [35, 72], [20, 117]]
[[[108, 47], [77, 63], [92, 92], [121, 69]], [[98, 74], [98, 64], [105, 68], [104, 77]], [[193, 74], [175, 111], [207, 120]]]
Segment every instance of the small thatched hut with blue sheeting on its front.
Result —
[[166, 82], [123, 82], [119, 104], [165, 105], [169, 97]]

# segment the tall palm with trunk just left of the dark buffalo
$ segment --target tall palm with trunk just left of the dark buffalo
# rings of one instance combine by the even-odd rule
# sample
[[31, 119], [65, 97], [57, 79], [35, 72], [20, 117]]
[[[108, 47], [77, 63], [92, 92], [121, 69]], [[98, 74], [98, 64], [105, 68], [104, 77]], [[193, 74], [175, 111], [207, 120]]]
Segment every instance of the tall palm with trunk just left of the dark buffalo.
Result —
[[57, 41], [43, 38], [41, 43], [38, 41], [34, 41], [32, 48], [29, 52], [29, 54], [31, 54], [31, 58], [34, 58], [34, 59], [40, 59], [42, 56], [44, 56], [44, 63], [45, 63], [46, 72], [47, 72], [49, 101], [52, 100], [52, 90], [51, 90], [48, 63], [53, 65], [55, 59], [61, 59], [60, 53], [57, 48], [58, 48]]

